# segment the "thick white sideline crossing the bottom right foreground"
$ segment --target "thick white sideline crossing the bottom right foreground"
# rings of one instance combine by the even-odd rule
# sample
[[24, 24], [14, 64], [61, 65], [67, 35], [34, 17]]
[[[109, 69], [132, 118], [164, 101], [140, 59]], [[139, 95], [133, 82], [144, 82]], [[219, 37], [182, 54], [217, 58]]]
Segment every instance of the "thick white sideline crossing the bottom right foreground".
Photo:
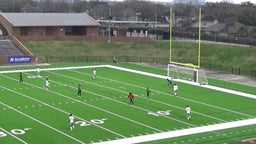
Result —
[[256, 118], [209, 125], [209, 126], [202, 126], [202, 127], [196, 127], [196, 128], [188, 128], [188, 129], [176, 130], [176, 131], [170, 131], [170, 132], [163, 132], [163, 133], [157, 133], [157, 134], [149, 134], [149, 135], [124, 138], [124, 139], [118, 139], [118, 140], [112, 140], [112, 141], [106, 141], [106, 142], [99, 142], [97, 144], [141, 143], [141, 142], [155, 141], [155, 140], [161, 140], [161, 139], [167, 139], [167, 138], [174, 138], [179, 136], [186, 136], [191, 134], [198, 134], [203, 132], [211, 132], [215, 130], [235, 128], [235, 127], [246, 126], [246, 125], [253, 125], [253, 124], [256, 124]]

